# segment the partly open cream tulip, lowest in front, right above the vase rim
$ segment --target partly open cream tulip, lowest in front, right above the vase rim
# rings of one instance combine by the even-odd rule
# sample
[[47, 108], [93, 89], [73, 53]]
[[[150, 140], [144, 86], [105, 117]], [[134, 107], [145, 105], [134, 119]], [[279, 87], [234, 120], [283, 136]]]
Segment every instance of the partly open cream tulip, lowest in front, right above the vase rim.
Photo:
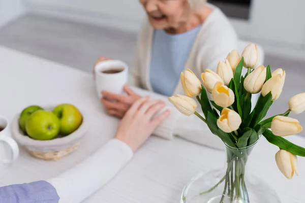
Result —
[[241, 118], [235, 111], [224, 108], [221, 116], [217, 119], [217, 126], [224, 132], [237, 130], [241, 124]]

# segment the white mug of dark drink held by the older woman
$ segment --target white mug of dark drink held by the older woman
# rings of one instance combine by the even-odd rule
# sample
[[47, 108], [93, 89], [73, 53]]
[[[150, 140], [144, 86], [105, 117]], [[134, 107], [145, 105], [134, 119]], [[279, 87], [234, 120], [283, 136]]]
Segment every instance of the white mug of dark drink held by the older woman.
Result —
[[[111, 70], [120, 70], [120, 72], [105, 73]], [[128, 65], [120, 60], [102, 61], [95, 66], [95, 76], [97, 93], [100, 98], [103, 90], [121, 94], [128, 81]]]

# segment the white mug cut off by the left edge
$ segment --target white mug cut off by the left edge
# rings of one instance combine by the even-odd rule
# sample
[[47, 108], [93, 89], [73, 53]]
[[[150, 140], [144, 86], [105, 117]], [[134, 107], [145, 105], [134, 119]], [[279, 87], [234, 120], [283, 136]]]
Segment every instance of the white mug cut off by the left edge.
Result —
[[[17, 143], [11, 138], [9, 120], [0, 116], [0, 169], [13, 162], [19, 155]], [[4, 129], [3, 129], [4, 128]]]

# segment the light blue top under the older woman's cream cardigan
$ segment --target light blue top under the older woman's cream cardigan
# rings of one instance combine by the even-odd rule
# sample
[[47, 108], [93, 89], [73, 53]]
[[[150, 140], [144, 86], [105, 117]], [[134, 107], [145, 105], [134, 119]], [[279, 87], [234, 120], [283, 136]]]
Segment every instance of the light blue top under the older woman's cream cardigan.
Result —
[[149, 73], [154, 92], [172, 96], [200, 28], [201, 25], [176, 35], [154, 30]]

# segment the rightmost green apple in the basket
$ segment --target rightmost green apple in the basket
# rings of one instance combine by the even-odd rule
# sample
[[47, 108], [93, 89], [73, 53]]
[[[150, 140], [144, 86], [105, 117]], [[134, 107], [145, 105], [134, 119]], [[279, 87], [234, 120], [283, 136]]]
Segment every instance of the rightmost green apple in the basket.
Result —
[[62, 136], [74, 132], [82, 122], [82, 115], [79, 110], [70, 104], [58, 105], [53, 109], [53, 113], [58, 117], [60, 123], [59, 133]]

